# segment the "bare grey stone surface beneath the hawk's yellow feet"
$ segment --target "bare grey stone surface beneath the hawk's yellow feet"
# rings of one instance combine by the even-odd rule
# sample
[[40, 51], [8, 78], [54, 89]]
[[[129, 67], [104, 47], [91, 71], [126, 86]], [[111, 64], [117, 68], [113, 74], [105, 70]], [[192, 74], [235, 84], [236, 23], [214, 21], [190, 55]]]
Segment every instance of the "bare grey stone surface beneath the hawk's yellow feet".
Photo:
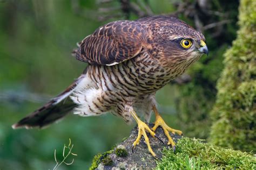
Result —
[[[153, 124], [150, 124], [150, 128], [152, 127]], [[147, 133], [147, 136], [149, 137], [152, 150], [158, 155], [158, 157], [161, 158], [161, 152], [163, 151], [164, 147], [171, 148], [171, 146], [167, 145], [168, 139], [160, 126], [156, 130], [156, 134], [161, 140], [164, 141], [164, 144], [157, 138], [150, 136], [149, 133]], [[177, 142], [177, 139], [181, 138], [181, 136], [178, 134], [170, 134], [175, 142]], [[138, 128], [136, 126], [131, 131], [129, 138], [125, 139], [122, 143], [113, 149], [112, 153], [107, 155], [107, 161], [106, 159], [100, 160], [100, 163], [96, 169], [152, 169], [156, 167], [156, 158], [154, 158], [147, 149], [147, 145], [144, 142], [144, 137], [140, 139], [139, 145], [134, 148], [134, 153], [132, 153], [132, 144], [137, 136]], [[116, 154], [116, 151], [120, 148], [122, 148], [124, 151], [127, 151], [127, 153], [124, 154], [127, 154], [126, 157], [121, 157], [120, 155], [118, 156]]]

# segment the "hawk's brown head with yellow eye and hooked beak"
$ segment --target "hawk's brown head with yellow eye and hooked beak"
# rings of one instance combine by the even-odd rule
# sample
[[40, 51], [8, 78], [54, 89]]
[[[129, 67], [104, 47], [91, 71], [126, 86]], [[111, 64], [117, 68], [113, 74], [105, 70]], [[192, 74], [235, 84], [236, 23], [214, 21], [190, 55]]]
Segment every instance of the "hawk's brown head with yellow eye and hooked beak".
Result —
[[208, 55], [203, 34], [175, 17], [156, 22], [155, 30], [158, 52], [169, 63], [192, 63], [201, 55]]

